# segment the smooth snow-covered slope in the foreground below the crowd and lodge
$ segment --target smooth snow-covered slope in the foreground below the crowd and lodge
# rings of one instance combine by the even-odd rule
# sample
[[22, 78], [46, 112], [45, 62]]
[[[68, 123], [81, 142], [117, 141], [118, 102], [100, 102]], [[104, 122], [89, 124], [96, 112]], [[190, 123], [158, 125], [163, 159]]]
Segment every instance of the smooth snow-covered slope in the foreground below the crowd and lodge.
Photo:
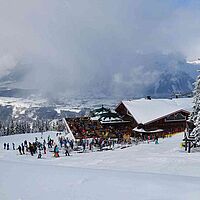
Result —
[[[55, 132], [44, 133], [55, 137]], [[182, 134], [125, 149], [43, 159], [3, 150], [40, 134], [0, 137], [0, 199], [199, 200], [200, 152], [180, 148]]]

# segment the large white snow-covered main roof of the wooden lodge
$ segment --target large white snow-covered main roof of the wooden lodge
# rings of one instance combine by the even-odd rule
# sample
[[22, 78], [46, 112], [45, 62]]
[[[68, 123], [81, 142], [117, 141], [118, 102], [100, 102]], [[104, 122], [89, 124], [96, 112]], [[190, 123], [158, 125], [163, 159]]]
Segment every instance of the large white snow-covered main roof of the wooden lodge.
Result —
[[[192, 98], [122, 101], [137, 123], [146, 124], [179, 110], [190, 112]], [[189, 109], [191, 107], [191, 109]]]

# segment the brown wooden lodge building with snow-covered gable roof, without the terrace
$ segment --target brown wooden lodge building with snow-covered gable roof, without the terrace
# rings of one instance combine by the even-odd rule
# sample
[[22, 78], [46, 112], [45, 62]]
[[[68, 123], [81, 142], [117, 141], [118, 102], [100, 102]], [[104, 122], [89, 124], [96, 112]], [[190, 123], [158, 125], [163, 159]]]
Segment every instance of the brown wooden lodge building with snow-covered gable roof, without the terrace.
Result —
[[135, 134], [162, 136], [184, 131], [191, 108], [191, 98], [185, 101], [147, 98], [122, 101], [115, 111], [131, 122]]

